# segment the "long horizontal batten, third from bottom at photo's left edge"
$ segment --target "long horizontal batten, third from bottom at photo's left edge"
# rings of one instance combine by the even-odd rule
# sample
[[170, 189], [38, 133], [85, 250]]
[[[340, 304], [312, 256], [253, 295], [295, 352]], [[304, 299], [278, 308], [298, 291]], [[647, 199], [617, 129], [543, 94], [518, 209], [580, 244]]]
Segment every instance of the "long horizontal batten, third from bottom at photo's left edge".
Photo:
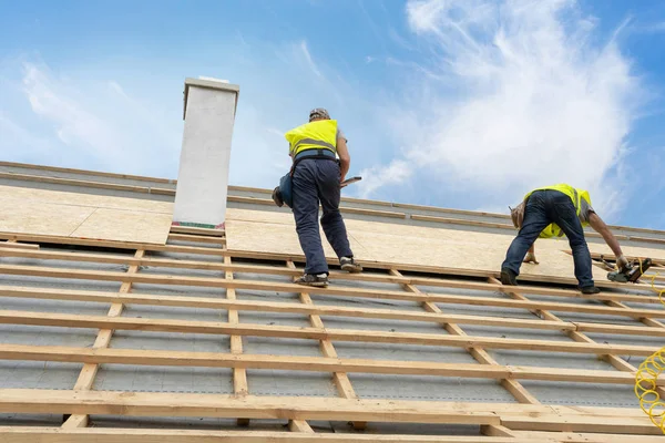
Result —
[[[192, 365], [205, 368], [386, 373], [608, 384], [634, 384], [635, 381], [634, 373], [617, 371], [513, 367], [500, 365], [498, 363], [462, 364], [427, 361], [342, 359], [337, 357], [263, 356], [110, 348], [90, 349], [28, 344], [0, 344], [0, 356], [6, 360], [82, 362], [89, 364]], [[665, 384], [665, 380], [659, 381], [659, 384]], [[76, 389], [79, 388], [76, 387]], [[357, 399], [357, 396], [349, 399]]]

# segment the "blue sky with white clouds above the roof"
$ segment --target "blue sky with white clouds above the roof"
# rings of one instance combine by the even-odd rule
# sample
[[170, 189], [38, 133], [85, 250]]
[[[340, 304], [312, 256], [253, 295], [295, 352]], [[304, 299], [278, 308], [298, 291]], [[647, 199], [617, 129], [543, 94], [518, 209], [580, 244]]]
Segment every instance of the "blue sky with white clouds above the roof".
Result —
[[507, 212], [587, 188], [665, 228], [659, 0], [0, 0], [0, 158], [176, 177], [187, 76], [241, 85], [231, 183], [272, 188], [283, 133], [339, 121], [346, 195]]

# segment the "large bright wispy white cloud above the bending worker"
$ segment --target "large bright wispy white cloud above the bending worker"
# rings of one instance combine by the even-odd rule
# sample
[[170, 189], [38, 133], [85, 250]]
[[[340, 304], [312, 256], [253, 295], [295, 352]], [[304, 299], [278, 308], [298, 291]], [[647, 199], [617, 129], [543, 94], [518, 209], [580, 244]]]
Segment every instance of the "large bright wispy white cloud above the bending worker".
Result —
[[406, 11], [433, 55], [390, 117], [409, 138], [401, 158], [366, 171], [364, 195], [422, 169], [501, 205], [567, 182], [601, 209], [621, 207], [611, 189], [641, 91], [614, 40], [594, 45], [594, 18], [573, 0], [411, 0]]

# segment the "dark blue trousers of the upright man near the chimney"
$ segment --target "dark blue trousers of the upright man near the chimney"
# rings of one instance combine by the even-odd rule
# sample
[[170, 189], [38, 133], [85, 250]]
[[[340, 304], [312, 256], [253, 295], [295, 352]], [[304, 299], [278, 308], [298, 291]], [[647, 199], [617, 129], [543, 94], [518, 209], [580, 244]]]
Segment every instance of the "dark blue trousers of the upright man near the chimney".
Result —
[[306, 158], [294, 172], [294, 217], [300, 247], [307, 264], [305, 272], [328, 272], [321, 246], [318, 215], [319, 202], [324, 209], [321, 227], [337, 257], [352, 257], [346, 226], [339, 214], [339, 164], [325, 158]]

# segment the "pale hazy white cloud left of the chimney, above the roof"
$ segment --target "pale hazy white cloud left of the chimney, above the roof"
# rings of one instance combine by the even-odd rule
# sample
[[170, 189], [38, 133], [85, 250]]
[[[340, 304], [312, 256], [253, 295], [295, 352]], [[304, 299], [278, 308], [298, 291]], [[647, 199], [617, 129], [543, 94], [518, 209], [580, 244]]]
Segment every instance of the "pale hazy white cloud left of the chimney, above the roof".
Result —
[[[22, 71], [20, 87], [32, 111], [32, 119], [23, 115], [12, 126], [7, 119], [2, 123], [31, 152], [20, 161], [47, 163], [51, 157], [74, 167], [175, 173], [180, 128], [167, 124], [158, 109], [144, 105], [119, 82], [57, 75], [45, 64], [34, 62], [16, 63], [11, 69]], [[19, 103], [13, 105], [20, 107]], [[23, 125], [40, 127], [43, 135], [27, 137]]]

